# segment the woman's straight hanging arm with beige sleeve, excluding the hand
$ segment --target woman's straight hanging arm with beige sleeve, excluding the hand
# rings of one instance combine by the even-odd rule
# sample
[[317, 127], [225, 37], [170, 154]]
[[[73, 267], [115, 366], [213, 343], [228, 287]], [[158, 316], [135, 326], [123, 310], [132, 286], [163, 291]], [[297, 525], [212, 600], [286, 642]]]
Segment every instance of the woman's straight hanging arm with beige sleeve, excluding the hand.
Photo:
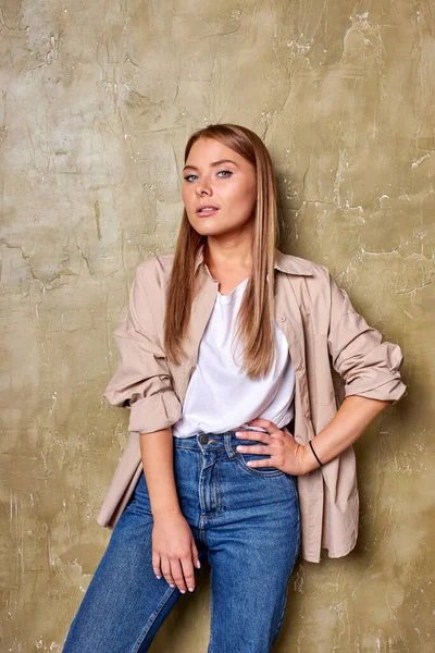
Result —
[[128, 310], [114, 331], [120, 364], [104, 396], [115, 406], [129, 408], [128, 429], [140, 433], [144, 473], [154, 514], [154, 509], [179, 510], [172, 424], [181, 417], [182, 407], [152, 318], [147, 288], [152, 263], [150, 259], [137, 268]]

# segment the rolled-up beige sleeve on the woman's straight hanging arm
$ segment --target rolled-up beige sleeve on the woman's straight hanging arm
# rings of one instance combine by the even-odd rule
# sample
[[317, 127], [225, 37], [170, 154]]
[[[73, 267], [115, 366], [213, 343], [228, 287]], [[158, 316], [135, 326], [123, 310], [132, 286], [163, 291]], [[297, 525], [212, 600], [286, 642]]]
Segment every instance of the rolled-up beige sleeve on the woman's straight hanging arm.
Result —
[[165, 354], [156, 333], [151, 298], [144, 276], [147, 270], [149, 268], [144, 263], [137, 268], [128, 308], [113, 332], [119, 365], [104, 392], [113, 406], [130, 409], [128, 430], [139, 433], [171, 427], [182, 415]]

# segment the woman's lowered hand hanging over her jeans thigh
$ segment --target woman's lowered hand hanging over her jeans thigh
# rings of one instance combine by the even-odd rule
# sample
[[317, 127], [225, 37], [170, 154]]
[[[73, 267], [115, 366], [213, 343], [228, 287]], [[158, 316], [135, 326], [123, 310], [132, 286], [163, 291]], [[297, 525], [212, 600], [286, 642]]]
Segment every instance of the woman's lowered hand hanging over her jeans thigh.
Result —
[[152, 528], [152, 569], [158, 578], [163, 574], [170, 586], [185, 593], [195, 590], [194, 565], [199, 568], [195, 538], [181, 512], [154, 517]]

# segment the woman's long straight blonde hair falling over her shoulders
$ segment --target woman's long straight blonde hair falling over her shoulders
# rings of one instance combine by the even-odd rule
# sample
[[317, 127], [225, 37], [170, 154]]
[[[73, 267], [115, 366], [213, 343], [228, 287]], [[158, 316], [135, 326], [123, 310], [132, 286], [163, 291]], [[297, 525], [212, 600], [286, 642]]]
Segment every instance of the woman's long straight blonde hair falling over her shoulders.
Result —
[[[257, 201], [253, 218], [252, 270], [238, 313], [235, 336], [241, 338], [241, 369], [250, 379], [269, 373], [274, 360], [274, 249], [278, 236], [276, 184], [269, 151], [254, 133], [234, 124], [208, 125], [195, 132], [185, 148], [185, 162], [199, 138], [213, 138], [251, 163], [257, 175]], [[170, 362], [179, 365], [184, 355], [191, 304], [195, 296], [195, 262], [207, 236], [196, 232], [183, 211], [166, 294], [164, 350]], [[269, 283], [272, 280], [272, 283]]]

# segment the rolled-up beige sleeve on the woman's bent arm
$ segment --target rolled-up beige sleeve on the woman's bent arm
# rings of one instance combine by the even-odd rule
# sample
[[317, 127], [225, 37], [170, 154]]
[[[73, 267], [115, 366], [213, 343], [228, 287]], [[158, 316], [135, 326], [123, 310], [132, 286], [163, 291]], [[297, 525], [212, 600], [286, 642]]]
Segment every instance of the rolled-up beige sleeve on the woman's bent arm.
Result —
[[347, 293], [330, 274], [328, 348], [332, 365], [345, 380], [345, 396], [361, 395], [396, 404], [406, 396], [401, 380], [403, 355], [370, 326], [352, 307]]

